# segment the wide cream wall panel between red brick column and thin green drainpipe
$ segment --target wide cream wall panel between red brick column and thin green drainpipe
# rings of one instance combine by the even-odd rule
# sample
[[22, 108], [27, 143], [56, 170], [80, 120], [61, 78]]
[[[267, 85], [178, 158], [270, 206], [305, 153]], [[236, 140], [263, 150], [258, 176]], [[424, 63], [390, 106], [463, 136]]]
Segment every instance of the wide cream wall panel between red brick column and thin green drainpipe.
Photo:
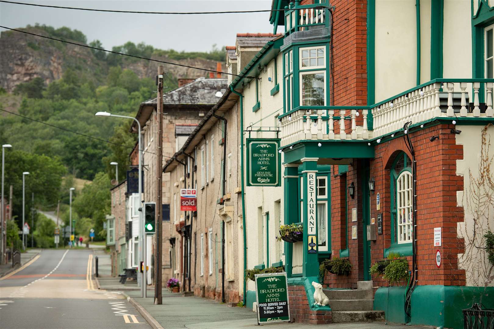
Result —
[[375, 100], [415, 86], [415, 1], [375, 1]]

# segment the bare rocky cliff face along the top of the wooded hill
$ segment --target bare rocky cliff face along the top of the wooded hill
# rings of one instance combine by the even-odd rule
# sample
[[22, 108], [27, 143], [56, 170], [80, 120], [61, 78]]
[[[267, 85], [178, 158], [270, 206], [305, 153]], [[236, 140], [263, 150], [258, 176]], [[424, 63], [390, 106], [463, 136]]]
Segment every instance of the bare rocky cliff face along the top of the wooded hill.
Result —
[[[48, 36], [37, 28], [24, 29], [26, 31]], [[216, 70], [216, 62], [202, 58], [171, 60], [166, 56], [153, 57], [182, 65], [195, 66]], [[124, 58], [122, 69], [130, 69], [139, 77], [154, 78], [157, 62]], [[222, 63], [222, 71], [225, 65]], [[163, 64], [165, 72], [176, 78], [197, 78], [208, 76], [206, 71]], [[80, 76], [93, 80], [96, 84], [103, 82], [108, 72], [108, 64], [98, 60], [89, 48], [62, 43], [55, 40], [26, 35], [15, 31], [5, 31], [0, 34], [0, 87], [12, 92], [21, 82], [29, 81], [40, 76], [45, 83], [60, 79], [67, 69], [73, 69]]]

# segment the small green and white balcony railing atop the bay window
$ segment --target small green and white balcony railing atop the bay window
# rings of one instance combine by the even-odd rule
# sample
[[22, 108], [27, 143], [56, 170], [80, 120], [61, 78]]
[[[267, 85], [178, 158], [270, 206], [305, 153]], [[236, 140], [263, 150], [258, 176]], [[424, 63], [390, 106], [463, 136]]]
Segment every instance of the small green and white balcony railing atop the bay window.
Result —
[[329, 8], [326, 3], [316, 3], [300, 5], [295, 1], [295, 5], [285, 7], [285, 36], [293, 32], [306, 31], [328, 27]]

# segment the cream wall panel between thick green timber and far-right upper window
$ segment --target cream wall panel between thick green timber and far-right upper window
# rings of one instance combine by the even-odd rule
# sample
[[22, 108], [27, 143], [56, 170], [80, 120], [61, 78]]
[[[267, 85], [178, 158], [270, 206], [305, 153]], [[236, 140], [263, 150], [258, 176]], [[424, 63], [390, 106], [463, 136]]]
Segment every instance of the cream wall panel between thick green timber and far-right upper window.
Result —
[[472, 77], [470, 11], [469, 1], [444, 1], [443, 77], [445, 78]]

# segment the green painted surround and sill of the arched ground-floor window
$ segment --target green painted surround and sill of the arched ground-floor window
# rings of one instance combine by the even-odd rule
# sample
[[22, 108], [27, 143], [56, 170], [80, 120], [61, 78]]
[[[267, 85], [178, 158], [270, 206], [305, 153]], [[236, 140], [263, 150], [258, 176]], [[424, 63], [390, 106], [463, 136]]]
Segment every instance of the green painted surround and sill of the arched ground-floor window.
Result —
[[[396, 172], [396, 166], [400, 160], [403, 159], [403, 168], [400, 169], [399, 172]], [[403, 172], [412, 172], [412, 168], [410, 166], [411, 160], [407, 156], [405, 152], [401, 152], [396, 159], [393, 161], [393, 165], [391, 166], [390, 170], [390, 195], [391, 195], [391, 204], [390, 204], [390, 221], [389, 224], [391, 226], [391, 246], [389, 248], [384, 249], [383, 251], [383, 256], [387, 257], [390, 252], [393, 253], [398, 253], [400, 256], [412, 256], [413, 251], [412, 251], [412, 242], [409, 243], [398, 243], [398, 237], [397, 237], [397, 209], [396, 209], [396, 183], [398, 180], [398, 177]], [[413, 233], [413, 226], [412, 226], [412, 233]], [[413, 236], [413, 235], [412, 235]]]

